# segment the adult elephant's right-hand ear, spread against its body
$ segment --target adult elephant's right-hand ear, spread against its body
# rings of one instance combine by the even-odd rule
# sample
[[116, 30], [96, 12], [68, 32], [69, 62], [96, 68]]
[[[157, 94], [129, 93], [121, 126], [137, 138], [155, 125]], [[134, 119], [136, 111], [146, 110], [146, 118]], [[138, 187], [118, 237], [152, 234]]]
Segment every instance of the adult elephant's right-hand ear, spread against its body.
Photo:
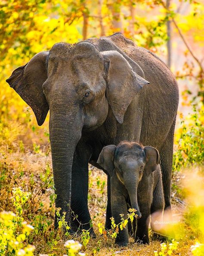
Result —
[[120, 124], [130, 102], [149, 82], [136, 74], [127, 60], [117, 51], [100, 52], [108, 69], [107, 98], [113, 114]]

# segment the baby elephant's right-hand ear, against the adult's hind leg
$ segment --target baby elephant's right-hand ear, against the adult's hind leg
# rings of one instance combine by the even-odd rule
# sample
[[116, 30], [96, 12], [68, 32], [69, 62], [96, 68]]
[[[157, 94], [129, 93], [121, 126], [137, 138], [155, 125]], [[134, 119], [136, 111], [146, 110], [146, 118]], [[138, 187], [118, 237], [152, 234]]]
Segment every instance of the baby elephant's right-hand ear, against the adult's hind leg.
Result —
[[145, 164], [145, 170], [148, 171], [150, 174], [151, 172], [154, 172], [158, 168], [158, 164], [161, 163], [159, 152], [154, 147], [144, 147], [145, 155], [146, 155], [146, 164]]

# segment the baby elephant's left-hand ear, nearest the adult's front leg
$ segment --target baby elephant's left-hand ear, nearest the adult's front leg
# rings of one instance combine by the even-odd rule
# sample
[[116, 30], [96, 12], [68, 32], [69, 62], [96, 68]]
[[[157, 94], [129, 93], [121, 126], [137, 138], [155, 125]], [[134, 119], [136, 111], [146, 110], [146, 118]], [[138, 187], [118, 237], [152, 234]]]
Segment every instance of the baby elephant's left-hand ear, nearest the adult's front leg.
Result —
[[113, 175], [114, 166], [114, 150], [115, 145], [109, 145], [102, 149], [101, 153], [99, 154], [99, 158], [97, 163], [106, 170], [110, 176]]

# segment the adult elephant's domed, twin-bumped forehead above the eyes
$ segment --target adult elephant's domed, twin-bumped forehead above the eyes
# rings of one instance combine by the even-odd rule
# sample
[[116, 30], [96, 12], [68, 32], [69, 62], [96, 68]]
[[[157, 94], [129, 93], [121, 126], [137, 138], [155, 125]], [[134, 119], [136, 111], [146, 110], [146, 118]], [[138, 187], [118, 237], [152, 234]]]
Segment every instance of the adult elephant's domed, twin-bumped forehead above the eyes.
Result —
[[82, 42], [76, 45], [58, 43], [53, 45], [49, 53], [48, 70], [52, 73], [93, 79], [103, 69], [103, 58], [90, 43]]

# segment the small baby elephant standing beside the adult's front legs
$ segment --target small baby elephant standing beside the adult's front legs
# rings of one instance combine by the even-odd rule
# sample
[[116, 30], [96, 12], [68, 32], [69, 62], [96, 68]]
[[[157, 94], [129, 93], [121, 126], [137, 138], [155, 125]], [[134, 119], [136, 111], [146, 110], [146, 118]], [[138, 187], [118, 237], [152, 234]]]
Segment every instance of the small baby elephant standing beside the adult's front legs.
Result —
[[[149, 243], [150, 214], [151, 228], [158, 231], [155, 223], [161, 221], [164, 209], [158, 150], [122, 142], [117, 147], [104, 147], [97, 163], [111, 176], [111, 215], [115, 223], [121, 222], [120, 214], [127, 218], [128, 209], [135, 208], [137, 220], [132, 224], [135, 242]], [[127, 228], [119, 230], [115, 243], [127, 246]]]

